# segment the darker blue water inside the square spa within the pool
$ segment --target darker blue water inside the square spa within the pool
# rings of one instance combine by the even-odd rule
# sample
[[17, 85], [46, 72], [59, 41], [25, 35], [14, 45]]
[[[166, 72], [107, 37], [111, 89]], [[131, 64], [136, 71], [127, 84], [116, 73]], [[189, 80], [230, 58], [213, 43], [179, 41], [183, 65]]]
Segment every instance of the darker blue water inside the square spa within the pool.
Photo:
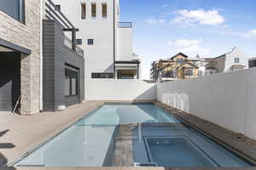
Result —
[[149, 160], [160, 167], [218, 166], [186, 137], [145, 138]]

